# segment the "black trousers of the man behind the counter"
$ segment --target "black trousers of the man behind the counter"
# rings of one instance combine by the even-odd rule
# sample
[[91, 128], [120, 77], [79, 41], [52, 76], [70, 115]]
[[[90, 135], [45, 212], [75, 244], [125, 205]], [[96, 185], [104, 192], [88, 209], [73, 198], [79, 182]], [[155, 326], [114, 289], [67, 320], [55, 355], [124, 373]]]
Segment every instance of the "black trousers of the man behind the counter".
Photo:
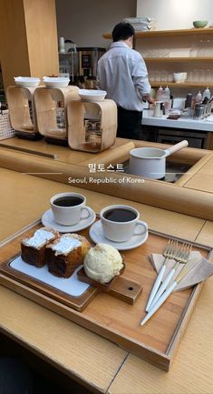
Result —
[[117, 136], [121, 138], [141, 139], [142, 112], [131, 111], [118, 106]]

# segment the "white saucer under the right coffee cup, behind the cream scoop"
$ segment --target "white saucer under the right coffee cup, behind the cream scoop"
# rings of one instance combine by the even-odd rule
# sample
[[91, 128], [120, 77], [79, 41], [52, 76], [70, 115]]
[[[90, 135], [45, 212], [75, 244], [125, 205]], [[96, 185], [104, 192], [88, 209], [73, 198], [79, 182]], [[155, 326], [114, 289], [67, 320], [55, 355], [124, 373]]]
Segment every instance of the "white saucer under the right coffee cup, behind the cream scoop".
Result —
[[[140, 220], [139, 220], [140, 223]], [[119, 250], [129, 250], [133, 248], [140, 247], [140, 245], [144, 244], [148, 238], [148, 231], [144, 234], [140, 234], [139, 236], [134, 236], [131, 237], [131, 239], [128, 239], [128, 241], [125, 242], [114, 242], [111, 241], [110, 239], [107, 239], [104, 237], [103, 232], [102, 232], [102, 222], [101, 220], [95, 222], [92, 227], [90, 228], [90, 237], [92, 241], [95, 244], [103, 243], [103, 244], [108, 244], [111, 245], [111, 247], [114, 247]]]

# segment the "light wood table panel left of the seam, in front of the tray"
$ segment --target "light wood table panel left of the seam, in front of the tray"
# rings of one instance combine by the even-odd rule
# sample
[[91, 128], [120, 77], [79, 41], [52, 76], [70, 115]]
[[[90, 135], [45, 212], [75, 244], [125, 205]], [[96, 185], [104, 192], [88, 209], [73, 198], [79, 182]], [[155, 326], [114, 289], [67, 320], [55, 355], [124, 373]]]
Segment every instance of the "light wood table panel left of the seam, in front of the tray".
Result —
[[5, 335], [93, 392], [107, 391], [125, 350], [1, 285], [0, 294]]

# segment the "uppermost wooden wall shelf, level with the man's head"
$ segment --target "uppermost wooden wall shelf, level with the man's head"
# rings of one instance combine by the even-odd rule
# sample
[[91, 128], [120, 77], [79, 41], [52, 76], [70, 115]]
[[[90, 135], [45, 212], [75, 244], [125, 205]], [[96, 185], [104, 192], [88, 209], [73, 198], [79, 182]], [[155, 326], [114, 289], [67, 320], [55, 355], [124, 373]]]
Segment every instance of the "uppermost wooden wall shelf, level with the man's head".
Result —
[[[204, 27], [202, 29], [181, 29], [181, 30], [151, 30], [149, 32], [136, 32], [136, 38], [143, 37], [163, 37], [163, 36], [179, 36], [179, 35], [213, 35], [212, 27]], [[111, 39], [111, 33], [105, 33], [102, 35], [103, 38]]]

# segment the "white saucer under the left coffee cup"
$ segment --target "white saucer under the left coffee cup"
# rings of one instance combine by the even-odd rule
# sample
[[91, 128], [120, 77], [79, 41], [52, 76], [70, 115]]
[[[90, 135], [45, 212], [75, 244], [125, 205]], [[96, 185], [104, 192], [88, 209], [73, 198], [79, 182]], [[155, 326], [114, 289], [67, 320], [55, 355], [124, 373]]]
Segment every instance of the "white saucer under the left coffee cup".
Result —
[[76, 231], [80, 231], [83, 228], [89, 227], [92, 225], [92, 223], [95, 221], [95, 213], [92, 210], [91, 207], [88, 207], [88, 210], [90, 211], [90, 217], [87, 218], [82, 218], [79, 223], [73, 226], [63, 226], [54, 221], [53, 217], [53, 211], [52, 209], [48, 209], [46, 212], [44, 212], [44, 215], [42, 217], [42, 223], [44, 226], [49, 226], [55, 228], [55, 230], [58, 230], [60, 233], [75, 233]]

